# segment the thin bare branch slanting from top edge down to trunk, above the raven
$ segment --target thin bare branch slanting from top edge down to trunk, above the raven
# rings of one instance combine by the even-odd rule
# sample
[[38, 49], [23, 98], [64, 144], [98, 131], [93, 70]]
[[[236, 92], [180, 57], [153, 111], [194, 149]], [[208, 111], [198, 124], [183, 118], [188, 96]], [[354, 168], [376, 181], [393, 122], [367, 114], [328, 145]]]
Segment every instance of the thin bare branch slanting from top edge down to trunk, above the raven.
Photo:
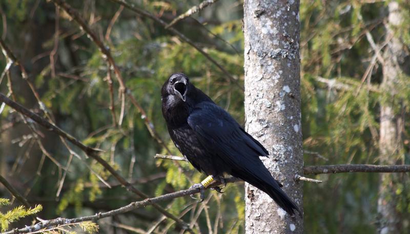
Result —
[[[155, 15], [151, 14], [148, 11], [142, 10], [137, 8], [134, 4], [129, 4], [127, 3], [125, 0], [110, 0], [112, 2], [118, 3], [126, 8], [128, 8], [129, 10], [148, 17], [152, 20], [154, 20], [156, 23], [162, 25], [163, 27], [167, 27], [167, 23], [165, 21], [163, 21], [162, 19], [156, 17]], [[208, 60], [210, 60], [212, 63], [214, 63], [214, 65], [221, 70], [225, 75], [227, 75], [227, 77], [236, 85], [238, 86], [241, 90], [244, 90], [243, 86], [241, 84], [238, 83], [238, 80], [236, 78], [234, 78], [231, 73], [229, 73], [226, 69], [224, 69], [215, 59], [213, 59], [207, 52], [203, 51], [201, 48], [199, 48], [197, 45], [195, 45], [195, 43], [189, 39], [187, 36], [185, 36], [184, 34], [180, 33], [178, 30], [176, 30], [173, 27], [169, 27], [168, 30], [170, 32], [172, 32], [173, 34], [177, 35], [181, 40], [187, 42], [189, 45], [191, 45], [192, 47], [194, 47], [197, 51], [199, 51], [203, 56], [205, 56]]]

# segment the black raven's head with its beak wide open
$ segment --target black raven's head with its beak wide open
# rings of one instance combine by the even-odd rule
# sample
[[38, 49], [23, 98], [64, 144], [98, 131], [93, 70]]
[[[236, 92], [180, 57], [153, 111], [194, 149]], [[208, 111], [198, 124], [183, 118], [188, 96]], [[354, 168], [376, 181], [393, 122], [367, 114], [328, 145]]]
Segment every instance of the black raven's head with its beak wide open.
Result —
[[173, 96], [175, 99], [180, 99], [186, 101], [188, 88], [189, 88], [189, 78], [182, 73], [172, 74], [167, 81], [162, 86], [161, 96], [162, 98], [166, 96]]

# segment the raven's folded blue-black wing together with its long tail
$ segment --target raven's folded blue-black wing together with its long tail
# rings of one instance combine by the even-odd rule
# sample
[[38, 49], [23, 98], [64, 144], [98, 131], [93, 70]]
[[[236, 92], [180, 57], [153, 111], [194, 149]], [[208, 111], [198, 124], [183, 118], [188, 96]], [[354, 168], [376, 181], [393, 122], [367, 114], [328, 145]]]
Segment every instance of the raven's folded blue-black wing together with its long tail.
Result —
[[188, 117], [188, 124], [210, 157], [224, 162], [228, 173], [263, 190], [290, 215], [299, 210], [259, 159], [268, 156], [268, 151], [226, 111], [214, 103], [201, 102]]

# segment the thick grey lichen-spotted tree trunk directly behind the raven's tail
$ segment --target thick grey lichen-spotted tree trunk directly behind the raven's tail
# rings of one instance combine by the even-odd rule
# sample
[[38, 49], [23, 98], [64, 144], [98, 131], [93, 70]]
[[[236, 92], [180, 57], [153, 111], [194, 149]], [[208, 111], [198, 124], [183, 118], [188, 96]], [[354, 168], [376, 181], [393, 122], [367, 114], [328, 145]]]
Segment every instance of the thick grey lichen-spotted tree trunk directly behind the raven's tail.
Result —
[[[302, 209], [299, 1], [244, 2], [245, 115], [247, 131], [269, 151], [261, 158]], [[246, 233], [303, 233], [265, 193], [245, 184]]]

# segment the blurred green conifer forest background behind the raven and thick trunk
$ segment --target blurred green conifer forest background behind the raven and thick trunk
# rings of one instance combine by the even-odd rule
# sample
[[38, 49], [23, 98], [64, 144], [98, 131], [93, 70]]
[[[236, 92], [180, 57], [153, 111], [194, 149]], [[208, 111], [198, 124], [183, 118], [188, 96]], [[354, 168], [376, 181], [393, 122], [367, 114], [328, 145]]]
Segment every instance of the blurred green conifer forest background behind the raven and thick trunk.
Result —
[[[186, 189], [203, 175], [186, 162], [154, 158], [156, 154], [180, 155], [162, 118], [160, 88], [170, 74], [184, 72], [244, 123], [243, 2], [211, 1], [215, 3], [171, 28], [179, 34], [117, 2], [66, 2], [94, 32], [95, 40], [87, 36], [87, 27], [79, 27], [73, 15], [52, 1], [1, 0], [2, 41], [21, 67], [12, 64], [10, 56], [0, 57], [0, 67], [5, 68], [0, 92], [52, 120], [85, 145], [104, 150], [100, 157], [148, 196]], [[167, 23], [200, 4], [128, 2]], [[410, 164], [410, 128], [405, 121], [410, 112], [410, 4], [395, 3], [400, 24], [387, 27], [391, 1], [300, 2], [305, 165]], [[388, 49], [392, 41], [400, 45], [393, 54]], [[384, 85], [383, 71], [393, 56], [401, 71]], [[391, 107], [397, 132], [394, 141], [381, 142], [381, 113], [386, 105]], [[1, 175], [32, 207], [42, 205], [40, 217], [93, 215], [135, 201], [106, 168], [71, 143], [24, 123], [7, 105], [0, 110]], [[393, 153], [385, 153], [384, 147], [393, 148], [389, 151]], [[303, 187], [305, 233], [381, 231], [381, 198], [393, 204], [399, 230], [408, 233], [408, 176], [315, 176], [323, 183], [304, 183]], [[207, 192], [199, 204], [190, 197], [160, 204], [203, 233], [243, 233], [243, 183], [230, 183], [224, 190], [224, 194]], [[0, 197], [11, 198], [3, 186]], [[13, 201], [15, 205], [20, 204]], [[174, 220], [151, 206], [97, 223], [105, 233], [180, 231]], [[12, 227], [28, 224], [30, 218]]]

